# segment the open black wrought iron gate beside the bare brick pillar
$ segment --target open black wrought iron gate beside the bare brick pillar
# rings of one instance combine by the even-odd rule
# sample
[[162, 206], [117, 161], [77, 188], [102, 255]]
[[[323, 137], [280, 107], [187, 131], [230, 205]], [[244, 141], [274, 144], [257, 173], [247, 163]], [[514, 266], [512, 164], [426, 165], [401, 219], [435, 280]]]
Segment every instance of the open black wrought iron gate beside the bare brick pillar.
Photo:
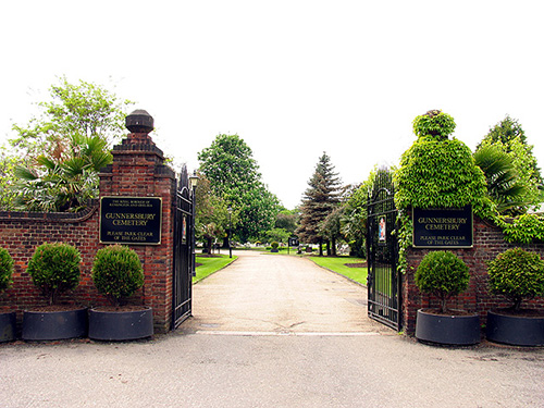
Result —
[[191, 313], [191, 280], [195, 270], [195, 207], [194, 190], [185, 166], [177, 181], [175, 201], [172, 329], [176, 329]]

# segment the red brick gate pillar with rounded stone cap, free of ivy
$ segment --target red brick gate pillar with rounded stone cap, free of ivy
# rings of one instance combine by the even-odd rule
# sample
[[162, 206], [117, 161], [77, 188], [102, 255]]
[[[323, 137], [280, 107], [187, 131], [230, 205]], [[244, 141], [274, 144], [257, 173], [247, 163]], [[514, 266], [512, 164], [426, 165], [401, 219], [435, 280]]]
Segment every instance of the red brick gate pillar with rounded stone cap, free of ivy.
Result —
[[153, 119], [144, 110], [126, 118], [131, 132], [113, 147], [113, 163], [100, 173], [100, 197], [158, 197], [162, 199], [159, 245], [129, 245], [140, 258], [145, 284], [135, 301], [153, 308], [154, 331], [165, 333], [172, 319], [173, 231], [176, 181], [149, 133]]

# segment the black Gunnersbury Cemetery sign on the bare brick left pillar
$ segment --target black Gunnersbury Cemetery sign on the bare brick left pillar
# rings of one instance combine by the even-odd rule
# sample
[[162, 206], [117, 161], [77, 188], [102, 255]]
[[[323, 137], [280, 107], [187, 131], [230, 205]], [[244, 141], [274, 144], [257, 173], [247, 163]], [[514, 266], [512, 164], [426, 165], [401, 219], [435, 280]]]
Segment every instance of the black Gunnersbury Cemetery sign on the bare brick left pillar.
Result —
[[100, 243], [158, 245], [161, 243], [162, 199], [102, 197]]

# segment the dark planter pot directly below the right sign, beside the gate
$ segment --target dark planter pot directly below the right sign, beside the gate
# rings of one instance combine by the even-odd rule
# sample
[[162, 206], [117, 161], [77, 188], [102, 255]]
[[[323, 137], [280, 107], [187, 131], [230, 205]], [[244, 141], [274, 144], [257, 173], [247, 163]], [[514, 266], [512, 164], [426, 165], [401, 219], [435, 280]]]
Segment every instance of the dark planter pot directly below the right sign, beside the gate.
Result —
[[418, 310], [416, 338], [423, 342], [453, 346], [468, 346], [480, 343], [480, 317], [441, 316], [424, 309]]

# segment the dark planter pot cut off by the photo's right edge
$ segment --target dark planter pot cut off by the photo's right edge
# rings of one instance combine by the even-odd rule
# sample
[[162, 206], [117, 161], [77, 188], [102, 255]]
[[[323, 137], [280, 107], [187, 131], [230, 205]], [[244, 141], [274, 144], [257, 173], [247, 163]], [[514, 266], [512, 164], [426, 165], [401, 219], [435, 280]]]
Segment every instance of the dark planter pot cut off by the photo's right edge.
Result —
[[544, 317], [487, 312], [487, 339], [512, 346], [544, 346]]

